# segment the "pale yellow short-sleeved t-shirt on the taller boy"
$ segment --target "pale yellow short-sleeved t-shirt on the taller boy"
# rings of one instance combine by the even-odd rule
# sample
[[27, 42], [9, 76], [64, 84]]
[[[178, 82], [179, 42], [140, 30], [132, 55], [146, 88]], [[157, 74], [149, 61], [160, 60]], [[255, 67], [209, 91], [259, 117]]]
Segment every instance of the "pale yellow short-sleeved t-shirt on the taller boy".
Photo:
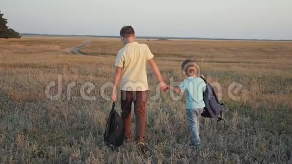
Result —
[[123, 68], [121, 90], [148, 90], [146, 62], [152, 57], [148, 46], [138, 42], [128, 43], [118, 51], [115, 66]]

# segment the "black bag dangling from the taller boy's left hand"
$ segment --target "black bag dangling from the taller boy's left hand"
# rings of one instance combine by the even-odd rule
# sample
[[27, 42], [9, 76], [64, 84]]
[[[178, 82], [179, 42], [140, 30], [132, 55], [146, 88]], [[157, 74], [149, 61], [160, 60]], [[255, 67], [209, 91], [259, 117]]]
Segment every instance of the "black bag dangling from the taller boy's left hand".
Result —
[[125, 140], [125, 129], [121, 116], [115, 110], [115, 102], [113, 102], [112, 110], [110, 111], [105, 131], [104, 142], [106, 145], [114, 148], [123, 145]]

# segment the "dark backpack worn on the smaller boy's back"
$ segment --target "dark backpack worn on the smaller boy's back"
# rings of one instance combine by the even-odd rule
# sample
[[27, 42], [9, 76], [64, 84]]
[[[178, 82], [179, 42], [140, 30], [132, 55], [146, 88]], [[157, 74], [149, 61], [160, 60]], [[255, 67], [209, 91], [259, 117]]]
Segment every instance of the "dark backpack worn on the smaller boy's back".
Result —
[[218, 97], [212, 86], [204, 78], [202, 79], [206, 83], [206, 91], [203, 94], [203, 99], [206, 106], [204, 108], [202, 116], [207, 118], [217, 117], [217, 125], [218, 121], [220, 120], [223, 120], [225, 124], [225, 120], [222, 119], [222, 111], [225, 110], [225, 104], [219, 102]]

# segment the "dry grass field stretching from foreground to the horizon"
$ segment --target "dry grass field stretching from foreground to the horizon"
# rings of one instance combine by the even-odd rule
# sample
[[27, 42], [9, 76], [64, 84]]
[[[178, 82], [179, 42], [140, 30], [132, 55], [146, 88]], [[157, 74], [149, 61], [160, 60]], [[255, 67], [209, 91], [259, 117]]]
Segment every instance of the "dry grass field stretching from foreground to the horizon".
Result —
[[[88, 40], [85, 55], [67, 53]], [[193, 58], [210, 83], [221, 84], [226, 125], [203, 119], [201, 150], [188, 146], [184, 99], [172, 100], [169, 91], [147, 103], [144, 157], [134, 143], [119, 152], [102, 144], [111, 102], [100, 88], [112, 81], [119, 39], [23, 37], [0, 40], [0, 163], [292, 163], [292, 42], [138, 41], [149, 45], [167, 83], [183, 80], [180, 64]], [[58, 74], [62, 94], [52, 101], [45, 89]], [[148, 79], [153, 96], [150, 69]], [[81, 97], [86, 81], [95, 85], [88, 94], [95, 101]], [[227, 92], [233, 82], [242, 84], [236, 101]]]

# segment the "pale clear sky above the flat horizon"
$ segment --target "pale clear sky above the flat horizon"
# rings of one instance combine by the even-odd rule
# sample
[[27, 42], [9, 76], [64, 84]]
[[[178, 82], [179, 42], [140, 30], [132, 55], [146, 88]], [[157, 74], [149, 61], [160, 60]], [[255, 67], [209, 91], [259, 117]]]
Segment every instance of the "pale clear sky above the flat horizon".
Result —
[[1, 0], [20, 33], [292, 39], [292, 0]]

